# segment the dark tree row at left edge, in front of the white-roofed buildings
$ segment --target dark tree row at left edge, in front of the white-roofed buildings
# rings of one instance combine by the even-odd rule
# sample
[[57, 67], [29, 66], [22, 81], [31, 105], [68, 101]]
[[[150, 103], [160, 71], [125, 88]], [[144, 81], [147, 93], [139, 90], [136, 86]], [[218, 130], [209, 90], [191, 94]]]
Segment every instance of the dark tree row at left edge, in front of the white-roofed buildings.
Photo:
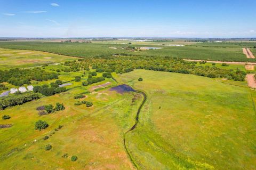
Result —
[[10, 96], [4, 96], [0, 98], [0, 109], [5, 109], [7, 107], [21, 105], [23, 103], [39, 99], [39, 94], [36, 93], [22, 93], [20, 95], [10, 95]]

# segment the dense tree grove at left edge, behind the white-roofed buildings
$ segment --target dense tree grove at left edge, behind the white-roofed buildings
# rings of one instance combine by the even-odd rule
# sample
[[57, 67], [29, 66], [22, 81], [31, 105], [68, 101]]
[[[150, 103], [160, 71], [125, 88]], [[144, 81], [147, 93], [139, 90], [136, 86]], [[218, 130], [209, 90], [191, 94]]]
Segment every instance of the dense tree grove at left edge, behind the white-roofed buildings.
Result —
[[43, 81], [49, 79], [58, 79], [54, 72], [46, 72], [38, 69], [10, 69], [0, 70], [0, 83], [8, 82], [15, 86], [31, 84], [30, 80]]

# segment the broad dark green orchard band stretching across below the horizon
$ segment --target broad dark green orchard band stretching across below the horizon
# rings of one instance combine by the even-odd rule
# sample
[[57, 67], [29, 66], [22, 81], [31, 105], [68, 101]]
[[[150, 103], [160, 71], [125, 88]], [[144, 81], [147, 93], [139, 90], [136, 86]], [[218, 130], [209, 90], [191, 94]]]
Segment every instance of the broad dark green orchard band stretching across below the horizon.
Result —
[[[203, 44], [203, 43], [198, 43]], [[52, 52], [62, 55], [71, 55], [79, 57], [113, 55], [113, 54], [131, 54], [131, 55], [147, 55], [147, 56], [173, 56], [182, 59], [201, 59], [201, 60], [218, 60], [218, 61], [250, 61], [255, 62], [255, 59], [247, 59], [243, 54], [242, 47], [212, 47], [212, 46], [161, 46], [159, 50], [147, 50], [132, 52], [122, 49], [127, 44], [101, 44], [101, 43], [53, 43], [53, 42], [1, 42], [0, 47], [23, 49], [23, 50], [38, 50]], [[142, 47], [145, 45], [134, 45]], [[147, 46], [154, 46], [147, 45]], [[245, 45], [247, 46], [247, 45]], [[116, 47], [117, 49], [109, 48]]]

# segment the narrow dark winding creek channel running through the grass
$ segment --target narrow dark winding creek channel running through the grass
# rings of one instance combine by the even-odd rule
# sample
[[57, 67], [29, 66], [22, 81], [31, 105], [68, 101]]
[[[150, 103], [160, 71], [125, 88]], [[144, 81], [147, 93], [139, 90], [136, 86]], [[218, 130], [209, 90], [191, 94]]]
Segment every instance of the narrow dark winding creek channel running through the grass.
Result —
[[137, 110], [137, 114], [136, 114], [136, 117], [135, 117], [135, 123], [134, 123], [134, 125], [129, 129], [129, 131], [126, 131], [126, 132], [124, 133], [123, 141], [124, 141], [124, 148], [125, 148], [125, 151], [126, 151], [127, 155], [129, 156], [130, 160], [132, 161], [132, 164], [138, 169], [138, 166], [136, 165], [135, 161], [133, 160], [131, 153], [130, 153], [130, 152], [128, 151], [128, 149], [127, 149], [127, 146], [126, 146], [126, 134], [129, 133], [129, 132], [131, 132], [131, 131], [133, 131], [133, 130], [137, 127], [137, 124], [139, 123], [140, 111], [141, 111], [141, 108], [143, 107], [143, 105], [145, 104], [145, 102], [146, 102], [146, 100], [147, 100], [147, 95], [146, 95], [146, 93], [144, 93], [144, 92], [142, 92], [142, 91], [136, 90], [135, 92], [143, 95], [143, 101], [141, 102], [140, 107], [139, 107], [139, 109]]

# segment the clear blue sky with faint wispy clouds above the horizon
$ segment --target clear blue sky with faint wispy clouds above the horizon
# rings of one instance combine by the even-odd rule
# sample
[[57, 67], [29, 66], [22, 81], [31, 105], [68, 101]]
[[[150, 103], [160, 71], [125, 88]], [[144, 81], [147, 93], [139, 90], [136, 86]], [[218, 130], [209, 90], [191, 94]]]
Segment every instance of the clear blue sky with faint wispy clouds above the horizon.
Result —
[[0, 37], [256, 37], [255, 0], [0, 0]]

